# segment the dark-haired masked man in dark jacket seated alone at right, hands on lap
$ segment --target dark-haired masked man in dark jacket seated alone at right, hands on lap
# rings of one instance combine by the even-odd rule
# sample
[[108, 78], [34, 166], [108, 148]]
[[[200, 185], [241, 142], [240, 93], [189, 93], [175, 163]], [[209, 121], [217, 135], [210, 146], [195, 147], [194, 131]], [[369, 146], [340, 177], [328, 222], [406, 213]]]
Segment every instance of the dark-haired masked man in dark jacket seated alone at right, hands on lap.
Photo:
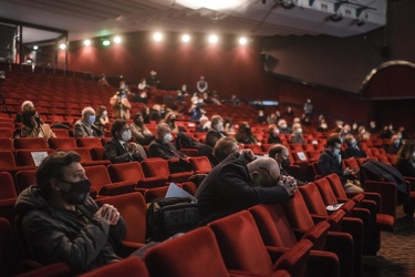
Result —
[[[321, 153], [319, 158], [319, 168], [321, 174], [324, 176], [335, 173], [342, 179], [345, 192], [361, 193], [363, 189], [357, 186], [355, 174], [359, 173], [359, 168], [343, 170], [342, 157], [341, 157], [342, 141], [339, 136], [330, 136], [326, 142], [326, 148]], [[351, 182], [351, 181], [354, 182]]]

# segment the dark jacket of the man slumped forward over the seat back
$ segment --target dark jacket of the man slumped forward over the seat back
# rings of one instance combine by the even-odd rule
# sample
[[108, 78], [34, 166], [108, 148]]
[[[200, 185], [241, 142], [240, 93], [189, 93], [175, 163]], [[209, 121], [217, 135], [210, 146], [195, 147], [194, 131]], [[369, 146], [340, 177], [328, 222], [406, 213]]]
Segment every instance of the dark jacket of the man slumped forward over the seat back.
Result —
[[282, 186], [252, 187], [246, 155], [231, 154], [217, 165], [196, 192], [204, 222], [227, 216], [257, 204], [274, 204], [289, 198]]

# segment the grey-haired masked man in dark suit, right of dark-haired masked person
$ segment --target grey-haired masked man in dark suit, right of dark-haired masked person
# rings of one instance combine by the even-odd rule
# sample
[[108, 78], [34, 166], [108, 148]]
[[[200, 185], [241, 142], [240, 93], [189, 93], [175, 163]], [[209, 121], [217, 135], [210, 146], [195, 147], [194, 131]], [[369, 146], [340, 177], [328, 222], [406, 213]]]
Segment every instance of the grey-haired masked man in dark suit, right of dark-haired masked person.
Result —
[[191, 165], [187, 156], [179, 152], [170, 142], [173, 141], [170, 127], [166, 123], [158, 123], [156, 127], [156, 138], [149, 144], [148, 156], [163, 157], [164, 160], [178, 160], [170, 162], [172, 173], [191, 171]]

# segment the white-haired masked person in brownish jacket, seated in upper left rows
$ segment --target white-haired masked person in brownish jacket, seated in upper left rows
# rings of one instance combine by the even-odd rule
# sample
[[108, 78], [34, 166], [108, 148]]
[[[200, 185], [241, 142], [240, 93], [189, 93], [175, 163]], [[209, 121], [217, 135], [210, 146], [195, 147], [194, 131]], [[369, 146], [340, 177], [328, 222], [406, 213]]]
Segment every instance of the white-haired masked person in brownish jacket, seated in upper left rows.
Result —
[[73, 125], [73, 137], [101, 137], [104, 133], [94, 125], [95, 110], [86, 106], [82, 110], [81, 120], [76, 121]]

